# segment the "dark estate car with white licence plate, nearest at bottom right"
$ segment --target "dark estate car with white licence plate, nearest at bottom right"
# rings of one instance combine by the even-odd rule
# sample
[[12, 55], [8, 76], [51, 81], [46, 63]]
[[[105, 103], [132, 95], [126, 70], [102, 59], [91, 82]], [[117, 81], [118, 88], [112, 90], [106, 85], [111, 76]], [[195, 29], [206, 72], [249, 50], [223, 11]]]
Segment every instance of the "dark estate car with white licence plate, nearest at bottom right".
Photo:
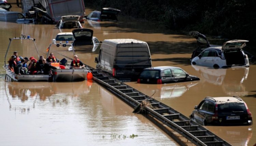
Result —
[[238, 96], [206, 97], [190, 118], [200, 125], [252, 125], [252, 113]]

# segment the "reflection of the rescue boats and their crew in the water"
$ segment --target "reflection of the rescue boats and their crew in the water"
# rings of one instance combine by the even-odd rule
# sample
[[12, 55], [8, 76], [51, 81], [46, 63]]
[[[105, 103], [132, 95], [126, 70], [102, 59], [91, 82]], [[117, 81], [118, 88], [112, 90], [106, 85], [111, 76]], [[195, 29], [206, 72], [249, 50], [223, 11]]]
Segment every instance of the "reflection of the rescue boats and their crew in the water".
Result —
[[19, 108], [21, 112], [24, 112], [35, 108], [36, 102], [48, 101], [52, 106], [67, 105], [73, 98], [89, 94], [92, 84], [93, 80], [65, 85], [49, 82], [5, 82], [5, 94], [10, 104], [10, 110]]

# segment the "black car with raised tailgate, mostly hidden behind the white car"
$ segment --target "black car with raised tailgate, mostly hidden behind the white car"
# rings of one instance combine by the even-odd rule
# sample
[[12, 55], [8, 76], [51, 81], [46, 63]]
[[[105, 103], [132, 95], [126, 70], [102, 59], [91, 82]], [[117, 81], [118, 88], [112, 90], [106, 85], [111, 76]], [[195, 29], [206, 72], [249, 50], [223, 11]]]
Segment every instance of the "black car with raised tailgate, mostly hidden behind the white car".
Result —
[[[197, 32], [197, 31], [190, 31], [189, 35], [193, 36], [199, 47], [196, 48], [196, 50], [193, 51], [191, 55], [191, 60], [198, 56], [202, 51], [209, 47], [221, 47], [221, 45], [212, 45], [210, 42], [207, 40], [206, 36]], [[249, 53], [248, 51], [243, 50], [244, 53], [248, 56], [249, 62], [254, 62], [256, 60], [256, 57]]]

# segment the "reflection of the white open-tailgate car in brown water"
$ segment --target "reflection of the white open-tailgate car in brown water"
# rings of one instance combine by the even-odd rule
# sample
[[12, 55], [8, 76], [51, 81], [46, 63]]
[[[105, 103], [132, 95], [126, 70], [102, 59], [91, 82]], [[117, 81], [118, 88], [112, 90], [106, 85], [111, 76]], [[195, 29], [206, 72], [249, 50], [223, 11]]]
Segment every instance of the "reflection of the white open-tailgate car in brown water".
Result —
[[192, 67], [204, 78], [202, 82], [208, 82], [222, 87], [222, 90], [230, 96], [246, 96], [248, 91], [243, 84], [248, 78], [249, 68], [208, 68], [202, 66]]

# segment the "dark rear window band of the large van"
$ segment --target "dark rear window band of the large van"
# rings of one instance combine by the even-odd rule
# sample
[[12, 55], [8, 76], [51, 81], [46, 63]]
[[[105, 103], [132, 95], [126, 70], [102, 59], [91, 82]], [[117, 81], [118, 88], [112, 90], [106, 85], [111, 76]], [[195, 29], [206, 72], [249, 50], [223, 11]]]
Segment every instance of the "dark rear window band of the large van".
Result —
[[[119, 51], [122, 50], [122, 51]], [[124, 51], [123, 51], [124, 50]], [[116, 64], [148, 65], [150, 64], [148, 48], [121, 48], [117, 52]]]

